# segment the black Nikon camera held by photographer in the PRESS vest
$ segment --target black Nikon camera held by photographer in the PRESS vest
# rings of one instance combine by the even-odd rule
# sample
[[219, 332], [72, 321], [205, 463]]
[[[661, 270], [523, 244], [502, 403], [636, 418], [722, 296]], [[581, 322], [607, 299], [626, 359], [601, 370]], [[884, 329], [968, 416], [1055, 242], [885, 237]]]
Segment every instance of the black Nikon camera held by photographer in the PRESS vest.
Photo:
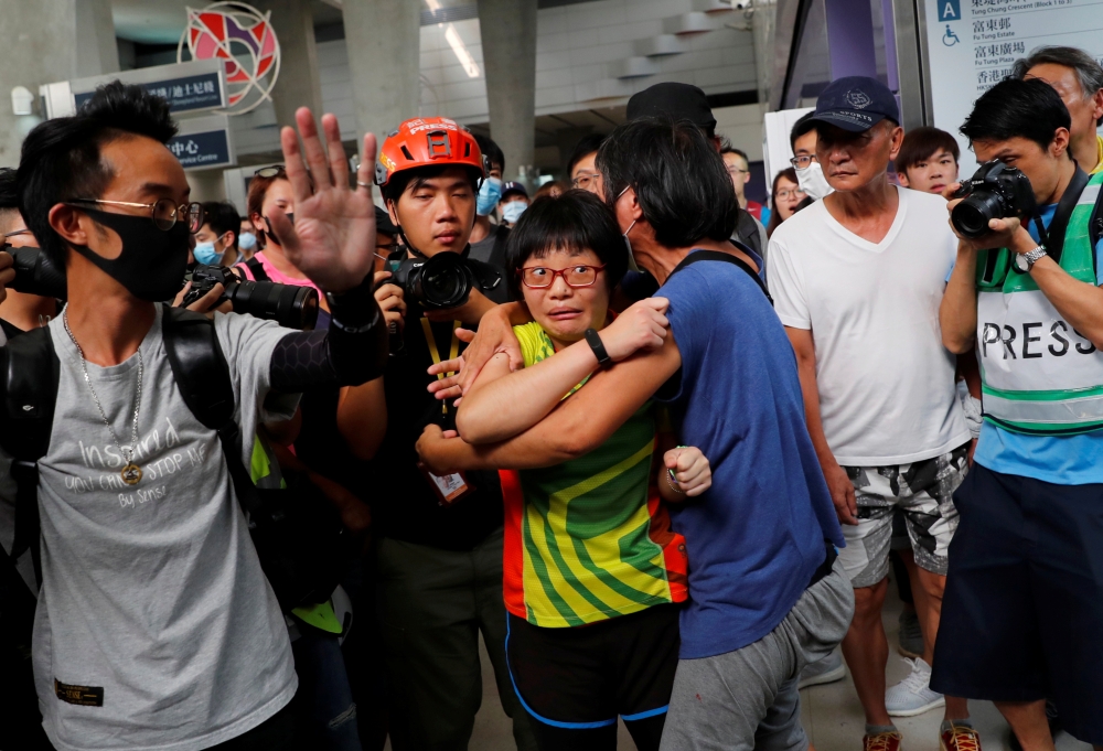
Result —
[[992, 232], [992, 219], [1022, 217], [1037, 206], [1030, 179], [998, 159], [977, 168], [955, 196], [964, 200], [954, 206], [950, 221], [965, 237], [984, 237]]

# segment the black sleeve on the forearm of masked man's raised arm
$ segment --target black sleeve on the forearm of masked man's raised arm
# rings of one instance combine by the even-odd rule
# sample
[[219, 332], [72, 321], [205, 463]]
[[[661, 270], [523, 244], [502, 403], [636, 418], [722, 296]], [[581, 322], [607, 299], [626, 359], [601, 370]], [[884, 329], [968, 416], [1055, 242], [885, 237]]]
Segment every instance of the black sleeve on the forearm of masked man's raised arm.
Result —
[[372, 280], [344, 294], [326, 294], [329, 331], [299, 331], [272, 351], [271, 387], [283, 393], [317, 386], [358, 386], [383, 375], [387, 324]]

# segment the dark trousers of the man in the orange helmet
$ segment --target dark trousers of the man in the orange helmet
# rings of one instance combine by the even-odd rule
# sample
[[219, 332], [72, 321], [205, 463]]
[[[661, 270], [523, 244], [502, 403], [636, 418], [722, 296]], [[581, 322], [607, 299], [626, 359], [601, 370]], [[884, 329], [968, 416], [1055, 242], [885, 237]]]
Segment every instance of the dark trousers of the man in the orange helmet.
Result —
[[393, 748], [465, 751], [482, 702], [481, 631], [517, 749], [536, 751], [505, 664], [502, 529], [465, 552], [385, 538], [377, 570]]

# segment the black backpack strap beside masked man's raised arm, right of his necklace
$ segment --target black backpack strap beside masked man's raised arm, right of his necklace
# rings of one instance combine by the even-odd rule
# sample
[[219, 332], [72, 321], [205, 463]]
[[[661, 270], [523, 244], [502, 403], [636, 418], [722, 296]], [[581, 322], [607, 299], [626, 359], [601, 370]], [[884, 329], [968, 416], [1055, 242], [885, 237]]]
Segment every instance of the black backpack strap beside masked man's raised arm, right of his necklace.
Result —
[[164, 305], [161, 337], [180, 396], [195, 419], [218, 433], [237, 500], [245, 511], [255, 512], [259, 503], [256, 485], [242, 464], [242, 431], [234, 420], [234, 384], [214, 322], [200, 313]]

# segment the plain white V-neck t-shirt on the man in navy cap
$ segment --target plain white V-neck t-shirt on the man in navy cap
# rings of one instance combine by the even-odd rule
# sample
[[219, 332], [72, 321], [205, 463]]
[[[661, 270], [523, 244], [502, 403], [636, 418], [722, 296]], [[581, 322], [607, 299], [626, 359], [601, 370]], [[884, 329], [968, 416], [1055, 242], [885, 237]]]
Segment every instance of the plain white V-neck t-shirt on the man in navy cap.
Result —
[[770, 239], [770, 293], [784, 325], [812, 330], [824, 433], [844, 465], [904, 464], [970, 440], [939, 326], [957, 249], [946, 202], [897, 191], [896, 218], [876, 245], [823, 201]]

